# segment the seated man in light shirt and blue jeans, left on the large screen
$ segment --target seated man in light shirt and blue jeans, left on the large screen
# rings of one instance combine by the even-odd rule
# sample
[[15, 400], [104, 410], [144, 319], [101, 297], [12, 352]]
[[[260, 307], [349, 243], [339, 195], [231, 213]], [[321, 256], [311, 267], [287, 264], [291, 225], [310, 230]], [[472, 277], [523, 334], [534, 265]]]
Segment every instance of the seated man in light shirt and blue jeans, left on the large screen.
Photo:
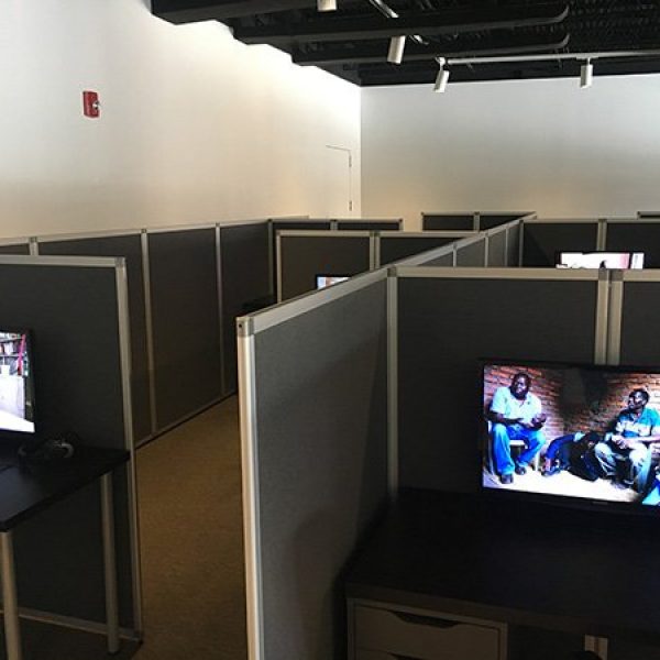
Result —
[[[530, 388], [529, 374], [515, 374], [509, 387], [495, 391], [488, 410], [488, 419], [493, 424], [493, 460], [503, 484], [513, 483], [514, 472], [525, 474], [527, 465], [546, 442], [541, 428], [547, 416], [541, 410], [541, 400], [529, 392]], [[525, 443], [525, 451], [516, 461], [512, 457], [512, 440]]]

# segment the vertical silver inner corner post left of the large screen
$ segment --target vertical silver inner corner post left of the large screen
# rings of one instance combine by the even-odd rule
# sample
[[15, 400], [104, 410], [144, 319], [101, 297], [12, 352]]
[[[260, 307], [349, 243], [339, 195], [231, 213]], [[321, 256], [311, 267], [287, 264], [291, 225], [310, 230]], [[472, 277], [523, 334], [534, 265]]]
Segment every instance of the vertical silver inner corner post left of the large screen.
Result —
[[398, 277], [387, 271], [387, 488], [389, 498], [398, 493]]

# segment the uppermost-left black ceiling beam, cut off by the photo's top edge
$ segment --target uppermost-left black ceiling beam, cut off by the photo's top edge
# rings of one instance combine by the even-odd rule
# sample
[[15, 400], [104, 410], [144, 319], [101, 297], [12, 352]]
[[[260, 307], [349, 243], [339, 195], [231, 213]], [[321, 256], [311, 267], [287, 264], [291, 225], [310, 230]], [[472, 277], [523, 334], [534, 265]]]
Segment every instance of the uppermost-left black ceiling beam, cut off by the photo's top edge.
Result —
[[260, 13], [316, 8], [315, 0], [152, 0], [152, 13], [170, 23], [226, 21]]

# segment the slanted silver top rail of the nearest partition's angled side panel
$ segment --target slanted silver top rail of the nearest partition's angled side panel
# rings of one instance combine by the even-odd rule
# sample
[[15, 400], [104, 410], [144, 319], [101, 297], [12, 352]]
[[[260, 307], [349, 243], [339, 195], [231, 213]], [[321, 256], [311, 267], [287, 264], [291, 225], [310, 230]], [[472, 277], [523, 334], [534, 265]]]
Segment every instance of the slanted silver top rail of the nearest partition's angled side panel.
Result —
[[377, 271], [370, 271], [355, 275], [341, 284], [323, 289], [301, 294], [290, 300], [285, 300], [254, 314], [237, 318], [237, 332], [241, 337], [256, 334], [268, 328], [279, 326], [295, 317], [312, 311], [344, 296], [349, 296], [376, 282], [387, 279], [391, 268], [384, 266]]

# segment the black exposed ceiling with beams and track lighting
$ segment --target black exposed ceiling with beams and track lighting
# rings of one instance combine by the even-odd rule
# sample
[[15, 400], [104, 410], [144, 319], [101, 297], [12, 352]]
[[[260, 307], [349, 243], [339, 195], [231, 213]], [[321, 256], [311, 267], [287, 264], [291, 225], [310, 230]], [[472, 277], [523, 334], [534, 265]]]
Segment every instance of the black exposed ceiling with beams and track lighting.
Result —
[[[336, 11], [318, 11], [317, 0], [152, 0], [152, 13], [221, 21], [239, 41], [271, 44], [361, 86], [432, 85], [438, 57], [452, 84], [578, 77], [585, 55], [596, 77], [660, 73], [660, 0], [336, 2]], [[403, 61], [392, 64], [399, 35]]]

